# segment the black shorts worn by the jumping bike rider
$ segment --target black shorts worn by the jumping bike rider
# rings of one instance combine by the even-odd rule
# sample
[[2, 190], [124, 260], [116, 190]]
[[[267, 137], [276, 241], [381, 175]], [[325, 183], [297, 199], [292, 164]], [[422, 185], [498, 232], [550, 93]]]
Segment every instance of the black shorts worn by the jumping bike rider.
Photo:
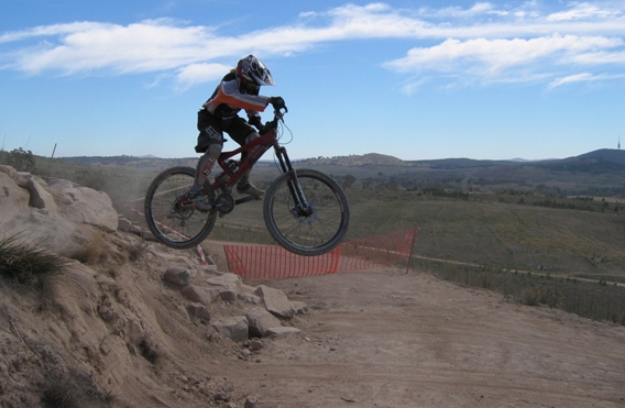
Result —
[[211, 144], [223, 146], [223, 132], [228, 133], [239, 145], [245, 144], [245, 139], [256, 130], [241, 117], [219, 119], [210, 114], [206, 109], [197, 113], [197, 153], [205, 153]]

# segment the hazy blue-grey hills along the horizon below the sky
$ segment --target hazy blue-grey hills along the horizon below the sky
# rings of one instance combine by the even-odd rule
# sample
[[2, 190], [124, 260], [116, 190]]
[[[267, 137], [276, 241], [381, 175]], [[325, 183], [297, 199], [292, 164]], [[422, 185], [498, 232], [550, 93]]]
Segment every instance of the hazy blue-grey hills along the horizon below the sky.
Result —
[[[62, 159], [152, 173], [173, 166], [195, 167], [197, 164], [197, 157], [112, 156]], [[390, 155], [369, 153], [307, 158], [295, 161], [294, 166], [314, 168], [337, 179], [355, 176], [358, 179], [375, 180], [375, 183], [394, 180], [404, 188], [436, 185], [449, 189], [501, 190], [546, 186], [555, 194], [613, 196], [625, 194], [625, 151], [621, 150], [605, 148], [563, 159], [524, 162], [472, 158], [402, 161]], [[255, 177], [273, 179], [276, 174], [273, 161], [259, 162], [254, 168]]]

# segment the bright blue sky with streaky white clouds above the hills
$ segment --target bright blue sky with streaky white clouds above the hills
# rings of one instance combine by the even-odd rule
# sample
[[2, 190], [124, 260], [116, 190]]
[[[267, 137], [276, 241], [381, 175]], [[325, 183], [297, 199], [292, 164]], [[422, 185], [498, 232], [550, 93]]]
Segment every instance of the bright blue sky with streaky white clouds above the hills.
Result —
[[546, 0], [2, 0], [2, 147], [196, 156], [198, 108], [248, 54], [292, 158], [625, 148], [625, 1]]

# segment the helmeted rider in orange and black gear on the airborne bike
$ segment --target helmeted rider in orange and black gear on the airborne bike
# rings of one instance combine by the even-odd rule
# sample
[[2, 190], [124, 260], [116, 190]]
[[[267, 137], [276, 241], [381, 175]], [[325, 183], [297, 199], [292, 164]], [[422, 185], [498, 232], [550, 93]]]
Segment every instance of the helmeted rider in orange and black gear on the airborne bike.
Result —
[[[267, 67], [253, 55], [239, 60], [237, 68], [228, 73], [198, 112], [197, 129], [199, 135], [195, 147], [197, 153], [204, 153], [197, 164], [194, 185], [189, 198], [200, 207], [202, 202], [201, 187], [209, 176], [215, 162], [223, 148], [223, 132], [228, 133], [241, 146], [260, 137], [262, 130], [261, 115], [267, 104], [274, 109], [284, 108], [281, 97], [264, 97], [259, 95], [261, 86], [275, 85]], [[245, 110], [248, 121], [239, 117], [239, 111]], [[246, 152], [241, 154], [244, 158]], [[250, 183], [250, 170], [244, 174], [237, 185], [239, 194], [261, 197], [265, 191]]]

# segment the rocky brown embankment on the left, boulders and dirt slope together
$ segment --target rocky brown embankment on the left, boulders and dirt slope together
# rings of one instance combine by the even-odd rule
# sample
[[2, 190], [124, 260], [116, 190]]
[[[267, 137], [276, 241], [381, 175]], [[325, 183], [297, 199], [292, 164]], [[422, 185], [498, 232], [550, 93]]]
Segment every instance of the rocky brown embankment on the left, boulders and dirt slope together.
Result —
[[304, 305], [149, 241], [106, 194], [0, 166], [0, 239], [15, 236], [68, 260], [42, 287], [0, 280], [2, 407], [233, 406], [215, 364], [299, 332]]

